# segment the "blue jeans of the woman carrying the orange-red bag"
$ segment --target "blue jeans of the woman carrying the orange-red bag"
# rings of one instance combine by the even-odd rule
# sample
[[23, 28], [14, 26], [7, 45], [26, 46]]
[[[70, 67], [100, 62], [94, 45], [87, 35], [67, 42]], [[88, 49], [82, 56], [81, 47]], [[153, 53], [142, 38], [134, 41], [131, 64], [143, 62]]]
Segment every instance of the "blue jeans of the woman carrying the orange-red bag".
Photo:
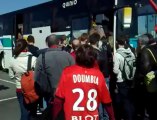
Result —
[[24, 97], [22, 92], [16, 92], [17, 99], [20, 105], [20, 111], [21, 111], [21, 118], [20, 120], [28, 120], [29, 119], [29, 112], [26, 109], [26, 104], [24, 103]]

